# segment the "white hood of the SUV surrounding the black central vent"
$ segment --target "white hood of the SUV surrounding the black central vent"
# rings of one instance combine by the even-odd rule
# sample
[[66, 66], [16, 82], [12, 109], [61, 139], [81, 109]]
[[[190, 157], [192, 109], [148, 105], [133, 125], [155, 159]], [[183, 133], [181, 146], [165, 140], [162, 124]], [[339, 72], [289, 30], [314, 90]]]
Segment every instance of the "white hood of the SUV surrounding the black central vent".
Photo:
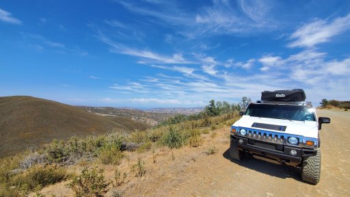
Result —
[[[254, 122], [286, 126], [286, 131], [275, 131], [271, 129], [260, 129], [260, 128], [252, 127], [252, 124], [254, 124]], [[241, 119], [237, 120], [237, 122], [234, 122], [232, 126], [260, 129], [265, 131], [273, 131], [276, 133], [288, 133], [291, 135], [301, 135], [304, 137], [313, 137], [316, 139], [319, 135], [319, 127], [318, 127], [317, 121], [281, 120], [281, 119], [259, 118], [259, 117], [244, 115], [242, 116]]]

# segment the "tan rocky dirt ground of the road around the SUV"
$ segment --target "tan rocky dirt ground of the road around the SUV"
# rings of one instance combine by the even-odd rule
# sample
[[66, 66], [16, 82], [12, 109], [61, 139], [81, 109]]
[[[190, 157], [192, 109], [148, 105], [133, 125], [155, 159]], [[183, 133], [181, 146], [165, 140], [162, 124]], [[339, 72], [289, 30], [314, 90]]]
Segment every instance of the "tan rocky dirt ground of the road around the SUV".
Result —
[[[110, 186], [123, 196], [350, 196], [350, 112], [318, 110], [318, 116], [332, 118], [321, 130], [321, 181], [310, 185], [301, 181], [300, 169], [246, 159], [230, 161], [229, 127], [204, 135], [198, 148], [170, 150], [159, 148], [154, 153], [132, 154], [118, 167], [130, 172], [131, 163], [140, 157], [146, 161], [146, 176], [129, 174], [120, 187]], [[204, 152], [210, 147], [216, 153]], [[155, 163], [154, 163], [155, 161]], [[75, 166], [80, 170], [81, 166]], [[104, 166], [106, 179], [113, 179], [116, 166]], [[45, 196], [73, 196], [66, 183], [42, 189]], [[116, 193], [115, 193], [116, 194]]]

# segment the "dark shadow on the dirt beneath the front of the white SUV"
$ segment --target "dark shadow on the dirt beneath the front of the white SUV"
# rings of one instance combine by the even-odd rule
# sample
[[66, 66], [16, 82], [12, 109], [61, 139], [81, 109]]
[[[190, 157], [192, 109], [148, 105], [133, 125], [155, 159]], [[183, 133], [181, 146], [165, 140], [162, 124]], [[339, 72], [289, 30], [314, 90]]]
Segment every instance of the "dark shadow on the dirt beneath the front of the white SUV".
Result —
[[267, 161], [254, 159], [249, 155], [245, 155], [245, 159], [243, 159], [243, 161], [236, 161], [230, 158], [229, 148], [225, 151], [224, 154], [222, 154], [222, 156], [224, 156], [225, 159], [228, 159], [232, 163], [236, 163], [237, 165], [243, 168], [248, 168], [250, 170], [264, 173], [270, 176], [275, 176], [280, 179], [292, 178], [297, 181], [301, 181], [301, 177], [300, 177], [301, 169], [297, 167], [269, 163]]

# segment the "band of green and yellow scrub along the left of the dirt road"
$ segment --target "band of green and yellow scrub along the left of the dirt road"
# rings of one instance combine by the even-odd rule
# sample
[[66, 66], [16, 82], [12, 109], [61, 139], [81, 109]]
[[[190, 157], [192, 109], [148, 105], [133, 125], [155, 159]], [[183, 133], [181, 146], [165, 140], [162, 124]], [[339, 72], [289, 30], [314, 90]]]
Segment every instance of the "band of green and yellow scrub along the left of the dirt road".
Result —
[[[0, 196], [27, 196], [29, 192], [38, 192], [46, 185], [64, 180], [72, 180], [69, 187], [76, 196], [101, 196], [110, 183], [117, 187], [122, 185], [127, 174], [116, 170], [115, 181], [107, 182], [103, 171], [97, 168], [84, 168], [77, 175], [68, 172], [67, 166], [92, 160], [118, 166], [122, 159], [128, 159], [126, 151], [143, 153], [162, 146], [202, 146], [202, 135], [215, 137], [215, 129], [227, 127], [238, 118], [238, 111], [249, 101], [246, 97], [242, 100], [246, 103], [230, 105], [225, 101], [215, 103], [212, 100], [199, 114], [176, 115], [146, 131], [114, 131], [108, 135], [70, 137], [68, 140], [54, 140], [43, 148], [5, 157], [0, 159]], [[208, 148], [205, 153], [215, 154], [216, 148]], [[136, 177], [145, 176], [145, 165], [145, 161], [139, 158], [130, 166], [130, 173]]]

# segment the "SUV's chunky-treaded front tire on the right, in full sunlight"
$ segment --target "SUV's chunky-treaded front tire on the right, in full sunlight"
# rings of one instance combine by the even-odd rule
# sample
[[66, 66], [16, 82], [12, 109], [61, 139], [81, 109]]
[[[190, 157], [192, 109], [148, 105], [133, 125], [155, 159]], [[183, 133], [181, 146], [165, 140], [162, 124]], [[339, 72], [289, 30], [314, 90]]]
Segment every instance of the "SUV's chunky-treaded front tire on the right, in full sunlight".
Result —
[[304, 159], [301, 168], [301, 179], [312, 185], [316, 185], [320, 181], [321, 174], [321, 150], [317, 149], [317, 155]]

